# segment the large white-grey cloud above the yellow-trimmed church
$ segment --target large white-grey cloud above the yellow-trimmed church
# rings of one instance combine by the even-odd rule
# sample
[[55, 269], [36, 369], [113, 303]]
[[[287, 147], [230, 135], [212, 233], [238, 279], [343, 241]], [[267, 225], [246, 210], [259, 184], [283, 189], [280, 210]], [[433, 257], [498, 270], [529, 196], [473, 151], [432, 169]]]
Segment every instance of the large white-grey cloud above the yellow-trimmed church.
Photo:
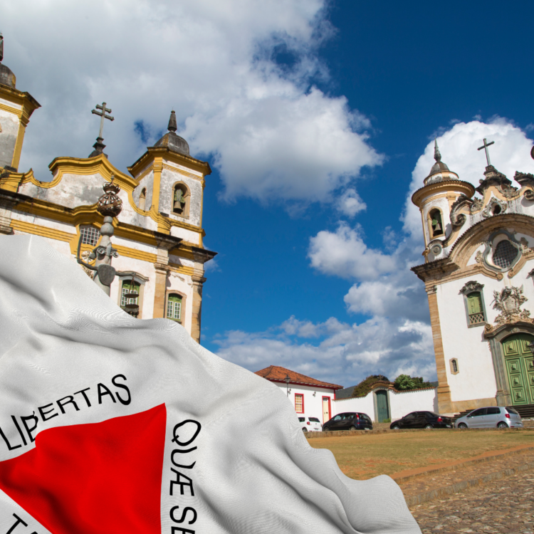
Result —
[[162, 135], [174, 108], [192, 155], [221, 172], [224, 199], [332, 201], [382, 156], [368, 143], [369, 120], [313, 85], [328, 78], [317, 53], [333, 33], [325, 4], [4, 1], [5, 63], [43, 104], [21, 169], [46, 179], [53, 157], [87, 157], [98, 133], [90, 110], [105, 100], [117, 167]]

